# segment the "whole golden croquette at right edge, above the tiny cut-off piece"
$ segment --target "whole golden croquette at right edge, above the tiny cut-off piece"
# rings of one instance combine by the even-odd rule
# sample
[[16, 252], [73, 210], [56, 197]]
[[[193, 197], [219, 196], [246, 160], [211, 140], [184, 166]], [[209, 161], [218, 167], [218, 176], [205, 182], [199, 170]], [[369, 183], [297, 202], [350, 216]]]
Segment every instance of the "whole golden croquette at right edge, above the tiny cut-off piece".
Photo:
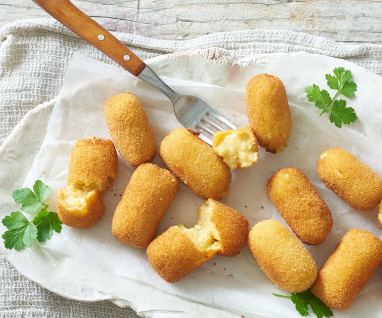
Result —
[[349, 151], [321, 153], [317, 173], [326, 186], [352, 208], [373, 210], [382, 200], [382, 179]]

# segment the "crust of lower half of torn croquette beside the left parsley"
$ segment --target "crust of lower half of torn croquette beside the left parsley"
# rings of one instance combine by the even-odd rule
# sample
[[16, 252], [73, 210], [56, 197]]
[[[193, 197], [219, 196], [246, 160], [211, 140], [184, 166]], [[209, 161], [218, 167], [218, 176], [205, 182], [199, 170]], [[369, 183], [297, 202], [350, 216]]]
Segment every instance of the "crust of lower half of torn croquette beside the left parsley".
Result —
[[105, 212], [105, 205], [102, 202], [101, 194], [93, 190], [83, 192], [85, 199], [81, 207], [69, 206], [68, 188], [57, 191], [57, 213], [58, 218], [66, 225], [72, 227], [86, 228], [96, 224]]

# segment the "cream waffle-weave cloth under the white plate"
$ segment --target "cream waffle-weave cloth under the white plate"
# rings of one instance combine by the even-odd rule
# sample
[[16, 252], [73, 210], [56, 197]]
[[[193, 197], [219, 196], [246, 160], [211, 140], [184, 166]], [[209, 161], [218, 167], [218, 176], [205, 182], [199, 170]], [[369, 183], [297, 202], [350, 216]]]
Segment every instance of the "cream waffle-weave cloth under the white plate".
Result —
[[[307, 51], [345, 58], [382, 74], [382, 46], [340, 44], [288, 31], [215, 33], [188, 41], [155, 40], [117, 33], [139, 57], [223, 47], [236, 59], [248, 55]], [[32, 107], [57, 96], [74, 52], [112, 63], [76, 35], [49, 19], [13, 22], [0, 29], [0, 142]], [[38, 124], [38, 123], [36, 123]], [[136, 317], [110, 302], [75, 302], [25, 279], [0, 250], [0, 317]]]

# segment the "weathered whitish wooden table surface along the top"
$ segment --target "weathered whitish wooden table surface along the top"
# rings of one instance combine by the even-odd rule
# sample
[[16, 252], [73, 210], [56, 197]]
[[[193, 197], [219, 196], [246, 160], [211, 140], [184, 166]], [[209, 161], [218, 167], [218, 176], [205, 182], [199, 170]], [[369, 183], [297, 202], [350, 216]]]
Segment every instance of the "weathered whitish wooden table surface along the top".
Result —
[[[283, 29], [338, 42], [382, 43], [381, 0], [73, 0], [109, 30], [158, 39]], [[0, 26], [47, 17], [32, 0], [0, 0]]]

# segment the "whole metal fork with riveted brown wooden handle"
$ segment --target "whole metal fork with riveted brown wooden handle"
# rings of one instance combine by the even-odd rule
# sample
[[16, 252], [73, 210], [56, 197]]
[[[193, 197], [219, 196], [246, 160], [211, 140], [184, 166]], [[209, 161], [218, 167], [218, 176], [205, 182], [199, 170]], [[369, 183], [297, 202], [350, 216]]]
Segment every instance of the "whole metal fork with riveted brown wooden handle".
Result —
[[212, 135], [236, 126], [218, 111], [192, 95], [181, 95], [166, 85], [142, 60], [100, 24], [69, 0], [32, 0], [55, 19], [109, 56], [125, 70], [162, 92], [171, 101], [178, 121], [212, 145]]

